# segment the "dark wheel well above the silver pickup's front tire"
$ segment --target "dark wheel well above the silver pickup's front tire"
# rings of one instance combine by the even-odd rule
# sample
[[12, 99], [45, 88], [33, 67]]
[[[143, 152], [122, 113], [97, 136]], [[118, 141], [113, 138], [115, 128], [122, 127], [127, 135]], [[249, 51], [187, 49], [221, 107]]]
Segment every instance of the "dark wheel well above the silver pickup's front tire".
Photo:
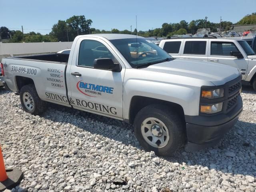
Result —
[[162, 104], [165, 106], [169, 106], [170, 109], [177, 112], [181, 116], [181, 118], [185, 120], [184, 110], [183, 110], [182, 106], [180, 106], [179, 104], [160, 100], [160, 99], [144, 97], [144, 96], [134, 96], [134, 97], [132, 97], [132, 100], [130, 103], [129, 122], [131, 124], [133, 124], [136, 114], [142, 108], [144, 108], [150, 104]]

